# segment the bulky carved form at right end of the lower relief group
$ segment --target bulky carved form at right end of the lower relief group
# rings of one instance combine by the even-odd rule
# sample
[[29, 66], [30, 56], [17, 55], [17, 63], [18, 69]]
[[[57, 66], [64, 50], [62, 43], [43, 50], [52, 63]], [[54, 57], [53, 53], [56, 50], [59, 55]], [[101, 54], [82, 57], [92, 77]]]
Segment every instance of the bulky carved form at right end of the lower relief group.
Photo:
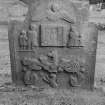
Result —
[[[62, 59], [59, 69], [69, 74], [69, 84], [72, 87], [80, 86], [80, 79], [84, 79], [85, 65], [78, 60], [78, 57], [71, 57], [70, 60]], [[84, 66], [83, 66], [84, 65]]]

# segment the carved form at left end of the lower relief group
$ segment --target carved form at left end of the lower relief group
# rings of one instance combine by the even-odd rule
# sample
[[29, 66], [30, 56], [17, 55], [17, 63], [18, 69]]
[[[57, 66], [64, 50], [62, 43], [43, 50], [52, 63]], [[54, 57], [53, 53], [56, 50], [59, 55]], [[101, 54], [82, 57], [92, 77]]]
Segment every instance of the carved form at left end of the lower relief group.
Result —
[[36, 71], [41, 70], [41, 67], [37, 65], [39, 62], [37, 59], [24, 58], [21, 63], [24, 71], [24, 83], [26, 85], [35, 84], [38, 80]]

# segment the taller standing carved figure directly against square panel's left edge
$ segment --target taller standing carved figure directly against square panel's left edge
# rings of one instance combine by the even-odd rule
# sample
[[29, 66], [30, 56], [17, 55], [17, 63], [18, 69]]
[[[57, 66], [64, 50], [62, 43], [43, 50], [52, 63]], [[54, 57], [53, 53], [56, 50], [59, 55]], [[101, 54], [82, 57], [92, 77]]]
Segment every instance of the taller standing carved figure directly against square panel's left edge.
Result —
[[31, 48], [38, 46], [38, 34], [37, 34], [37, 26], [35, 24], [31, 24], [29, 27], [29, 36]]

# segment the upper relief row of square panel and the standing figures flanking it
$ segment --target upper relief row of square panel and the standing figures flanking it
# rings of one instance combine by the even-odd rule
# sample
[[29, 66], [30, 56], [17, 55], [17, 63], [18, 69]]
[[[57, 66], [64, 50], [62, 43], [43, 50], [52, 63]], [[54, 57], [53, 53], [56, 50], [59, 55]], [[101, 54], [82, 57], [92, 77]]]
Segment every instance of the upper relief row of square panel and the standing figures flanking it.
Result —
[[[81, 47], [81, 36], [66, 25], [42, 24], [41, 34], [36, 24], [30, 24], [29, 30], [22, 30], [19, 35], [19, 47], [21, 50], [34, 49], [34, 47]], [[40, 38], [39, 38], [40, 37]], [[41, 46], [40, 46], [41, 44]]]

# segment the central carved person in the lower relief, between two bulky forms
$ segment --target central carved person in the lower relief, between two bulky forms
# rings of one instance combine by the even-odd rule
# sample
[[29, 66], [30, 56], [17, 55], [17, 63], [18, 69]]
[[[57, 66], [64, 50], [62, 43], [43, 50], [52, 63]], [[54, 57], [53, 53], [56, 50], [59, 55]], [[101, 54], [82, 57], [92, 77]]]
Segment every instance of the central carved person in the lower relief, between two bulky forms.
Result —
[[45, 82], [50, 84], [51, 87], [57, 87], [56, 73], [57, 65], [55, 60], [55, 54], [53, 51], [49, 52], [47, 56], [40, 57], [42, 64], [44, 64], [44, 69], [47, 70], [48, 74], [43, 78]]

